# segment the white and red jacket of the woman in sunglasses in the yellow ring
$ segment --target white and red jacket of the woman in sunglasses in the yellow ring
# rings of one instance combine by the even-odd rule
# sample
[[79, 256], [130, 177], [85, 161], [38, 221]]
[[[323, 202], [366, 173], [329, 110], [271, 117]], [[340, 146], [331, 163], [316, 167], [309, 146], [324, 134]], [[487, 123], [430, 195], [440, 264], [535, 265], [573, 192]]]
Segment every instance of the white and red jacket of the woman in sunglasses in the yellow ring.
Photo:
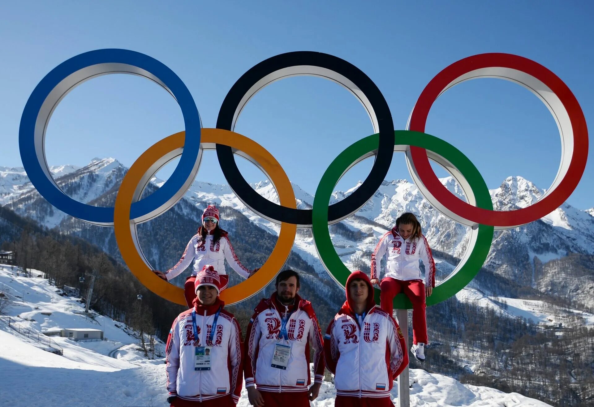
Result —
[[211, 264], [214, 267], [214, 270], [220, 275], [226, 275], [225, 259], [227, 259], [231, 268], [235, 270], [238, 275], [247, 279], [250, 270], [246, 269], [243, 264], [239, 262], [229, 240], [229, 234], [222, 231], [221, 238], [218, 242], [215, 242], [213, 240], [213, 235], [209, 233], [206, 235], [206, 240], [203, 240], [200, 235], [200, 229], [198, 229], [198, 233], [192, 236], [188, 242], [184, 254], [182, 254], [182, 258], [179, 259], [178, 264], [165, 272], [165, 277], [167, 277], [168, 280], [177, 277], [179, 273], [183, 272], [194, 260], [192, 276], [195, 276], [200, 272], [206, 264]]

